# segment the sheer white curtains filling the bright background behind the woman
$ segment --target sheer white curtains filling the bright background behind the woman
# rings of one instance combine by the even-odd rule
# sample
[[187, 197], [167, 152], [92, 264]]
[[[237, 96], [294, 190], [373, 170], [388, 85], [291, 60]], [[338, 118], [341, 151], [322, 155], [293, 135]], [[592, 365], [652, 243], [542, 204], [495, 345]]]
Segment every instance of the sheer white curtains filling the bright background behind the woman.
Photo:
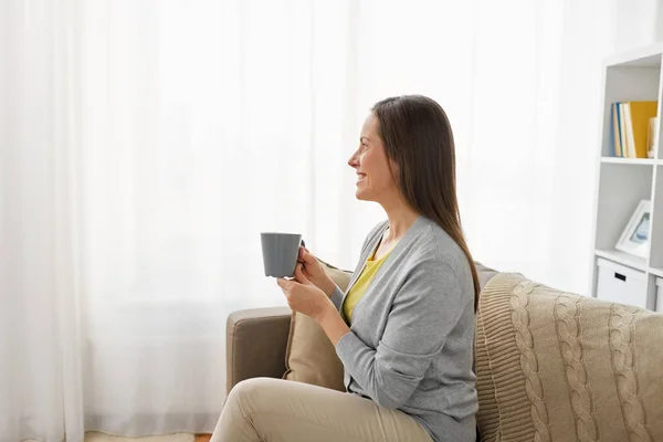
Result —
[[260, 232], [352, 269], [378, 99], [448, 110], [475, 259], [589, 284], [600, 60], [654, 0], [0, 2], [0, 441], [211, 431]]

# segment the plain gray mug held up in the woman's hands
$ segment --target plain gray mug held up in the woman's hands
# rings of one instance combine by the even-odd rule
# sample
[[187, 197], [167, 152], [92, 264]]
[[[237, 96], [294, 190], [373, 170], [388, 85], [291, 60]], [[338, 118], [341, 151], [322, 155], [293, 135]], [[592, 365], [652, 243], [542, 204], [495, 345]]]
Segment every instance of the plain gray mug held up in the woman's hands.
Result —
[[260, 239], [263, 249], [263, 265], [265, 276], [293, 277], [299, 244], [304, 245], [298, 233], [261, 232]]

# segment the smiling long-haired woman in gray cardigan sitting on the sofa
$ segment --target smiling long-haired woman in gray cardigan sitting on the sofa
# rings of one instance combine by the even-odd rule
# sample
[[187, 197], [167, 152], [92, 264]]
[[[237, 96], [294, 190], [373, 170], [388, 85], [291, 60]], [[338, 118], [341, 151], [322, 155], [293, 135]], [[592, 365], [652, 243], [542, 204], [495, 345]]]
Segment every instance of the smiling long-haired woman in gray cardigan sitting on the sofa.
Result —
[[356, 197], [382, 206], [345, 295], [308, 250], [277, 284], [334, 344], [349, 393], [277, 379], [240, 382], [213, 442], [474, 441], [478, 278], [463, 239], [454, 143], [423, 96], [379, 102], [348, 164]]

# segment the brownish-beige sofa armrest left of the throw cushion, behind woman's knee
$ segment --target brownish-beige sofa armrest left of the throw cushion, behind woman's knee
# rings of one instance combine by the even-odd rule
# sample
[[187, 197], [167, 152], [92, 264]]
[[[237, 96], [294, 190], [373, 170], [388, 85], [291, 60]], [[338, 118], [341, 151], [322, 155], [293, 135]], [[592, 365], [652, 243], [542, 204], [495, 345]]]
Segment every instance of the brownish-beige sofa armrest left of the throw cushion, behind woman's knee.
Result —
[[225, 325], [225, 389], [250, 378], [281, 378], [292, 312], [287, 307], [232, 313]]

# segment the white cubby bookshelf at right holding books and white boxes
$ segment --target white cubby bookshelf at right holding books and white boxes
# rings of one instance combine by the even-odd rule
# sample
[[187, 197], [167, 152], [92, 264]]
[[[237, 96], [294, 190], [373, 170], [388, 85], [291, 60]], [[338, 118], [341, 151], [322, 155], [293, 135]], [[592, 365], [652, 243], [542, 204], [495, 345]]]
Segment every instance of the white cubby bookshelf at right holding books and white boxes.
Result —
[[[612, 138], [615, 102], [663, 103], [663, 43], [604, 60], [601, 146], [594, 203], [591, 294], [598, 298], [663, 312], [663, 148], [653, 158], [617, 157]], [[661, 134], [661, 120], [654, 128]], [[659, 139], [663, 139], [659, 136]], [[644, 256], [617, 249], [641, 200], [651, 201]], [[646, 225], [646, 224], [642, 224]]]

